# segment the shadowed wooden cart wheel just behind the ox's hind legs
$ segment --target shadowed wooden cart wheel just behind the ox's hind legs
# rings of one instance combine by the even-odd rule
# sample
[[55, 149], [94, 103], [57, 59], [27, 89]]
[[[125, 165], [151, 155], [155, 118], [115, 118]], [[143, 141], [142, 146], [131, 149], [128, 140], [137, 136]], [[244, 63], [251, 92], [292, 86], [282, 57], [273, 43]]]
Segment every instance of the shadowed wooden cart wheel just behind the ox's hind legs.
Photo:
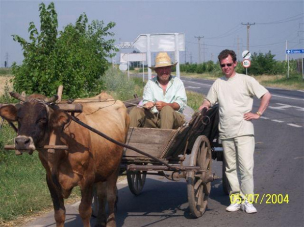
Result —
[[143, 190], [143, 187], [146, 182], [147, 171], [128, 171], [127, 170], [127, 184], [130, 191], [134, 195], [139, 195]]

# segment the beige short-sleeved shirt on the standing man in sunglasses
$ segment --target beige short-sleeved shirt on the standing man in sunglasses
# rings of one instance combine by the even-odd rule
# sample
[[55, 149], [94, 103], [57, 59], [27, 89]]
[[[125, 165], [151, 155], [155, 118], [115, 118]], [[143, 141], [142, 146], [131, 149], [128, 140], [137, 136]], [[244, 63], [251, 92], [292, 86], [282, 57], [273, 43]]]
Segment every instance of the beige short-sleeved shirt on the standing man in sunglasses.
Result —
[[253, 77], [244, 74], [217, 79], [206, 99], [211, 106], [219, 103], [220, 139], [254, 135], [253, 123], [244, 120], [244, 114], [252, 111], [253, 96], [260, 98], [267, 92]]

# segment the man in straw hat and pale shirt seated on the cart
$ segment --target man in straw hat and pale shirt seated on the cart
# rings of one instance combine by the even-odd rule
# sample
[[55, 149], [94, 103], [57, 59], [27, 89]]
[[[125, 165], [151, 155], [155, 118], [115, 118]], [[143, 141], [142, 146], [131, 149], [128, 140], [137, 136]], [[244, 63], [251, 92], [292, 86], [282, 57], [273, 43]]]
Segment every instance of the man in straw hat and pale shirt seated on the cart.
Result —
[[160, 52], [155, 59], [157, 76], [149, 80], [144, 88], [142, 104], [130, 111], [130, 127], [177, 129], [185, 122], [183, 109], [187, 95], [182, 81], [171, 75], [171, 63], [166, 52]]

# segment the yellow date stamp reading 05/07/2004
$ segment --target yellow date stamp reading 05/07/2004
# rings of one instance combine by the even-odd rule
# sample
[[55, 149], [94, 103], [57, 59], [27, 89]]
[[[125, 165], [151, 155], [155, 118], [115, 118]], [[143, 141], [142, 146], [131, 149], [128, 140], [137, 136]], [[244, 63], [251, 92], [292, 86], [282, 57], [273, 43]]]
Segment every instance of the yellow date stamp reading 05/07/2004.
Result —
[[[240, 194], [232, 194], [229, 196], [231, 204], [243, 204], [243, 200]], [[248, 202], [251, 204], [288, 204], [289, 196], [288, 194], [246, 194]]]

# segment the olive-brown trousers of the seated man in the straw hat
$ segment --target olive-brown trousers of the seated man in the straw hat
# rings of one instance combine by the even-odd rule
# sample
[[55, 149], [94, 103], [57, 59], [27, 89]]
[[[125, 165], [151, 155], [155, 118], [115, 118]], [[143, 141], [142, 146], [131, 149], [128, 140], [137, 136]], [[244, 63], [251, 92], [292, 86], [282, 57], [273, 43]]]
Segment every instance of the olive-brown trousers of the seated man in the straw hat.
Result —
[[184, 116], [170, 106], [164, 106], [158, 113], [133, 107], [129, 116], [130, 127], [177, 129], [185, 122]]

